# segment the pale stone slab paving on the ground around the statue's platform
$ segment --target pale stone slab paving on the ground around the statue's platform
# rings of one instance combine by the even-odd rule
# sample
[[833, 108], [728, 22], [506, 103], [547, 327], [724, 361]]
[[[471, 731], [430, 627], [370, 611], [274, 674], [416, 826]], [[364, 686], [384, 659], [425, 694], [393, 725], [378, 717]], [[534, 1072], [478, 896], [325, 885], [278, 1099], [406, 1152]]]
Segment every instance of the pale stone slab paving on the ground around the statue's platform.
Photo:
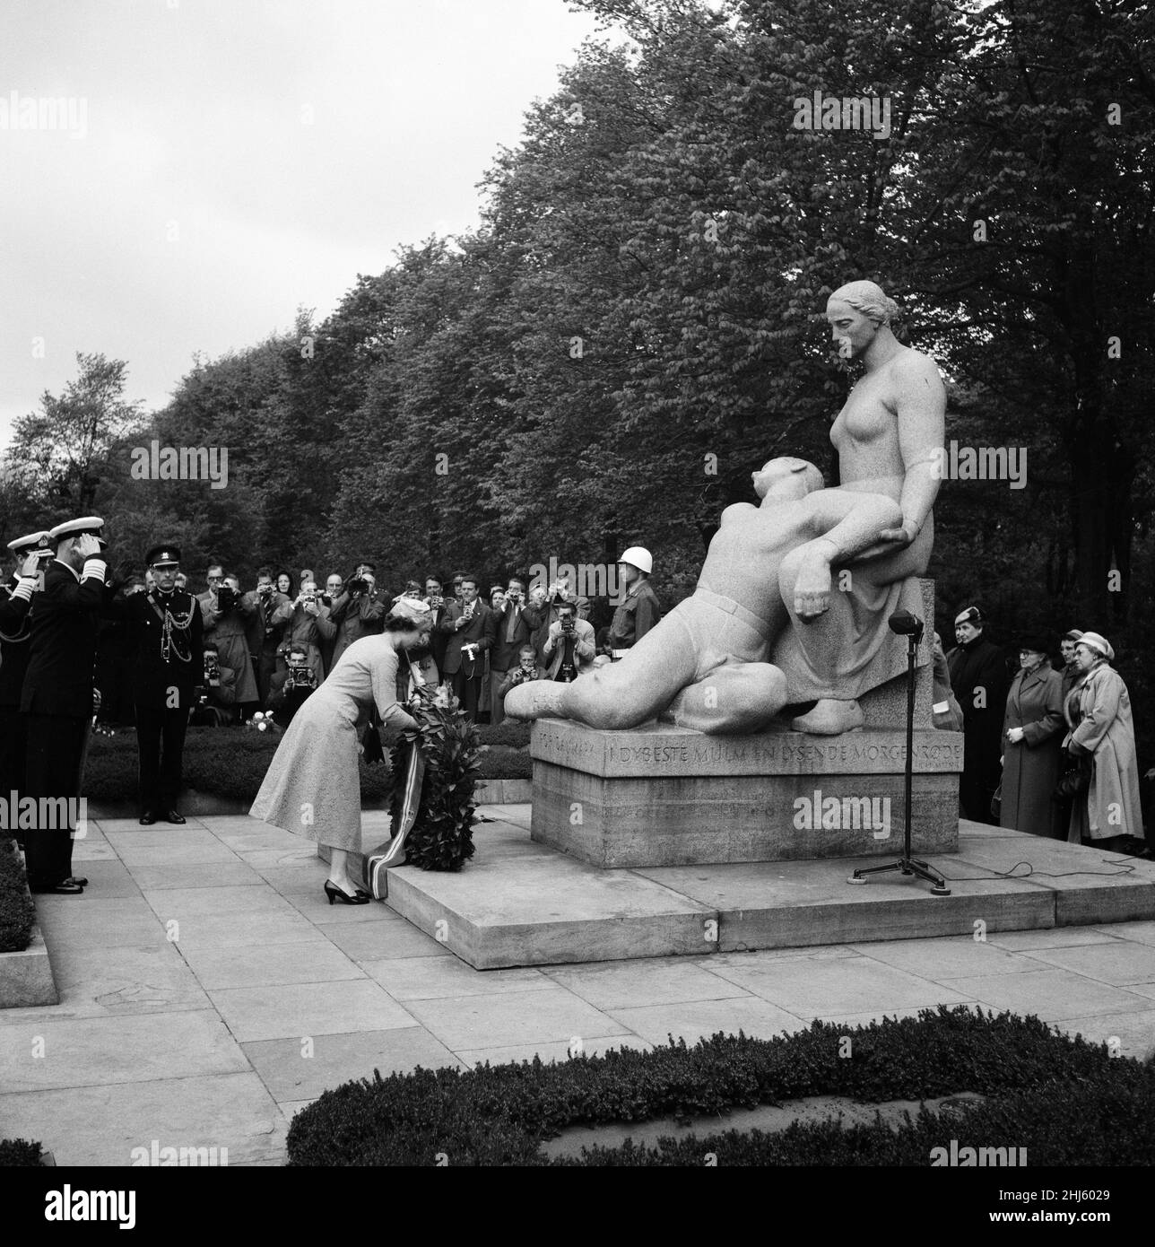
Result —
[[[528, 806], [482, 813], [478, 860], [491, 832], [528, 837]], [[365, 843], [385, 826], [366, 814]], [[97, 821], [75, 860], [83, 897], [37, 898], [61, 1004], [0, 1011], [0, 1137], [60, 1165], [153, 1141], [277, 1165], [293, 1114], [374, 1066], [564, 1059], [574, 1036], [599, 1052], [976, 1004], [1155, 1046], [1155, 922], [482, 971], [384, 904], [330, 907], [313, 843], [247, 817]]]

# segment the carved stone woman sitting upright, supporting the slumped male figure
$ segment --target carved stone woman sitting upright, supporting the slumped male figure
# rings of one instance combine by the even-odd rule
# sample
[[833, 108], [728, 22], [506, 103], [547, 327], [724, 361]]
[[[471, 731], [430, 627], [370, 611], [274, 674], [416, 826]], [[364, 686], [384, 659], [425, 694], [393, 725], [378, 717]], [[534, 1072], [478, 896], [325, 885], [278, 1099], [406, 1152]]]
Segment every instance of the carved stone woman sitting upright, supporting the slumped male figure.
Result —
[[850, 282], [826, 302], [839, 355], [866, 369], [830, 430], [837, 488], [886, 495], [901, 508], [902, 524], [882, 529], [875, 545], [845, 564], [829, 546], [811, 545], [779, 567], [791, 626], [771, 662], [784, 672], [791, 702], [816, 702], [792, 721], [804, 732], [832, 736], [862, 726], [858, 697], [906, 670], [905, 647], [893, 643], [887, 620], [901, 609], [922, 610], [910, 577], [927, 570], [934, 541], [946, 390], [934, 360], [895, 337], [897, 312], [873, 282]]

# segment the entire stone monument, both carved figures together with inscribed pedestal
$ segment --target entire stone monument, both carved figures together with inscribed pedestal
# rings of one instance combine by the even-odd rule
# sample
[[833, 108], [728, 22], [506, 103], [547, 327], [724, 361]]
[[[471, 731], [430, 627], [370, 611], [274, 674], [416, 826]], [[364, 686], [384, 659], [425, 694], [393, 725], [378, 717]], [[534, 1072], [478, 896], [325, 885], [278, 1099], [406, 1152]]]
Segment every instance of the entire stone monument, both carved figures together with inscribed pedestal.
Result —
[[[920, 576], [946, 408], [933, 360], [895, 338], [896, 311], [871, 282], [827, 302], [840, 355], [865, 364], [831, 429], [837, 488], [771, 459], [753, 474], [759, 505], [723, 513], [694, 594], [622, 661], [508, 693], [510, 717], [543, 720], [535, 839], [604, 867], [893, 850], [907, 656], [887, 621], [933, 621]], [[913, 840], [941, 853], [957, 843], [962, 736], [929, 726], [928, 663], [923, 643]], [[814, 705], [775, 722], [799, 703]]]

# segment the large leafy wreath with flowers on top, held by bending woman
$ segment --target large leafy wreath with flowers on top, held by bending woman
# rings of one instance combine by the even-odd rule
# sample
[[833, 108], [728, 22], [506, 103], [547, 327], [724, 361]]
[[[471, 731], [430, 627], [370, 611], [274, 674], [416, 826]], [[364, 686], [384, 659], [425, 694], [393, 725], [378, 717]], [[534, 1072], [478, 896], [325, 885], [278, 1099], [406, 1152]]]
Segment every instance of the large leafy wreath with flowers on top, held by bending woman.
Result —
[[417, 728], [406, 728], [390, 753], [394, 818], [404, 798], [410, 749], [425, 759], [421, 801], [405, 842], [406, 865], [422, 870], [460, 870], [473, 855], [473, 791], [481, 774], [477, 725], [471, 723], [446, 688], [419, 687], [409, 705]]

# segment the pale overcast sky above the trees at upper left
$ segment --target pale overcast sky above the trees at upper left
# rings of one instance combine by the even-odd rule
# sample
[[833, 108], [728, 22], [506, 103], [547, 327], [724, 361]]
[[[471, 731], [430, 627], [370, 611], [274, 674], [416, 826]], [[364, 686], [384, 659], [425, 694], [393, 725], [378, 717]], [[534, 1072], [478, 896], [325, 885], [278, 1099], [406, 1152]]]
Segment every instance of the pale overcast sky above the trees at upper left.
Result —
[[77, 350], [163, 407], [193, 352], [476, 224], [594, 30], [566, 0], [2, 0], [0, 445]]

